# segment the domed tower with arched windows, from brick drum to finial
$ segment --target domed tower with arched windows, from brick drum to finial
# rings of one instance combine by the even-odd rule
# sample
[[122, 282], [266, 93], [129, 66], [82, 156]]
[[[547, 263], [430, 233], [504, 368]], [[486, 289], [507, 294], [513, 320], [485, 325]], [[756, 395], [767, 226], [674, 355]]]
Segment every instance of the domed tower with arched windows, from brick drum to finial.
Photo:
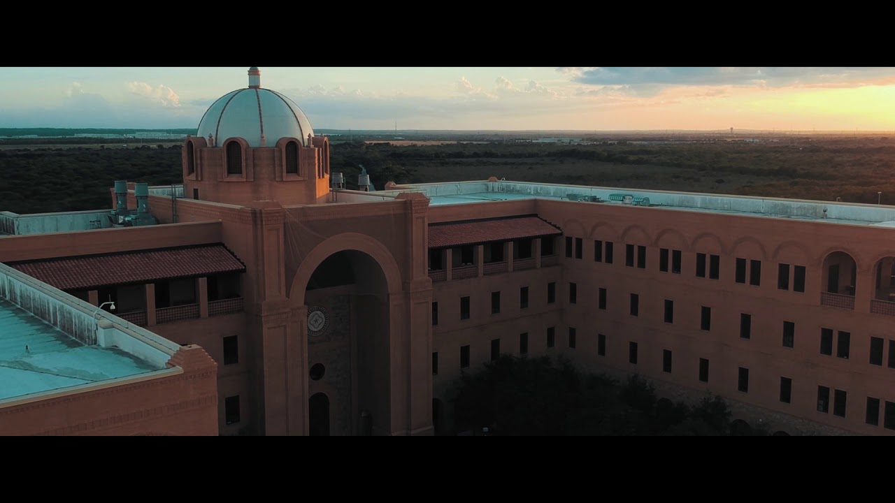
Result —
[[324, 202], [329, 193], [329, 141], [314, 136], [294, 101], [261, 88], [228, 92], [202, 115], [183, 145], [184, 196], [236, 205], [276, 200], [282, 205]]

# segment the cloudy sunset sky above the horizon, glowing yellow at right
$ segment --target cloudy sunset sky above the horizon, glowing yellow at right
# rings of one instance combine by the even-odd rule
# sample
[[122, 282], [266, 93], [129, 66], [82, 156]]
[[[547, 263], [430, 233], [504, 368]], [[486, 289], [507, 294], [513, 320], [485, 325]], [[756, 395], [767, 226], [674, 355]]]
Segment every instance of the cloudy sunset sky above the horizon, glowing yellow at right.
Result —
[[[0, 68], [0, 127], [194, 128], [249, 67]], [[891, 67], [260, 67], [316, 130], [895, 131]]]

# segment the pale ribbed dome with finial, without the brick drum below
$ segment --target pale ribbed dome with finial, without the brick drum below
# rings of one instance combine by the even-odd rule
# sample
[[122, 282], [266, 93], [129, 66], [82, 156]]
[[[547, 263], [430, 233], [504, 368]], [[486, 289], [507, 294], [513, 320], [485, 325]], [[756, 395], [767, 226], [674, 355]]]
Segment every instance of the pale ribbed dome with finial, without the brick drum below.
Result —
[[202, 115], [197, 136], [215, 138], [222, 145], [228, 138], [243, 138], [250, 147], [261, 146], [264, 134], [267, 147], [281, 138], [297, 138], [308, 146], [308, 134], [314, 135], [311, 122], [295, 102], [273, 90], [261, 89], [260, 71], [249, 70], [249, 87], [228, 92], [217, 98]]

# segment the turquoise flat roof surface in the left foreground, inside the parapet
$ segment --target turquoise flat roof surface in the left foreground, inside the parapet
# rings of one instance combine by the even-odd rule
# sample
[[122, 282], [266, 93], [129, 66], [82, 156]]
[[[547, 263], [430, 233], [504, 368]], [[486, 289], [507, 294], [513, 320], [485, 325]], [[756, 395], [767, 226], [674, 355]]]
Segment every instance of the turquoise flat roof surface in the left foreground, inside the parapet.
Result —
[[0, 400], [163, 369], [116, 347], [83, 345], [0, 297]]

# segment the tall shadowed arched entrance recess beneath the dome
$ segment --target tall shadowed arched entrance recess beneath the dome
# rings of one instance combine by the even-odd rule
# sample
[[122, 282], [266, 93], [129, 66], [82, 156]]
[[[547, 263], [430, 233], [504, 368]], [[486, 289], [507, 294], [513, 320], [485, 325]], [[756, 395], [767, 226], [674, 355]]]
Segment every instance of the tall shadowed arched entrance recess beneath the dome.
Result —
[[[308, 279], [308, 393], [328, 396], [333, 435], [364, 434], [371, 426], [388, 431], [388, 301], [383, 269], [364, 252], [332, 253]], [[311, 423], [312, 413], [313, 405]]]

